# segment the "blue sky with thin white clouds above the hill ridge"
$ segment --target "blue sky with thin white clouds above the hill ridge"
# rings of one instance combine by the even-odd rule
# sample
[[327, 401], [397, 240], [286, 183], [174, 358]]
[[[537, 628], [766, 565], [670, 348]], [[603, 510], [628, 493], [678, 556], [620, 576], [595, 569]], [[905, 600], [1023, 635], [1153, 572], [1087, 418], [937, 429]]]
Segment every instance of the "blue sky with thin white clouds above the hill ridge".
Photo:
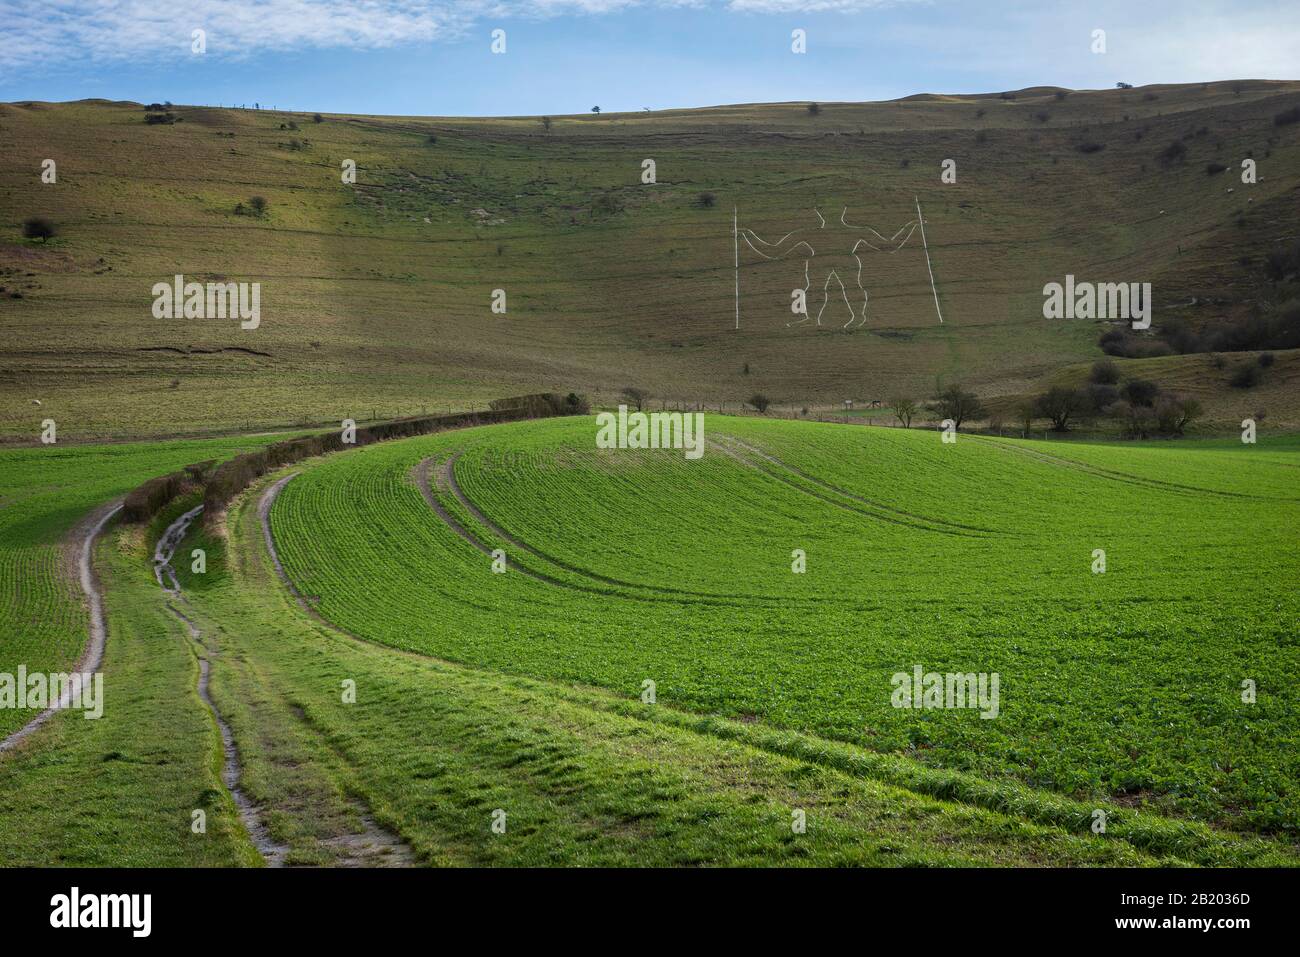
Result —
[[1228, 78], [1300, 78], [1300, 4], [0, 0], [0, 100], [563, 114]]

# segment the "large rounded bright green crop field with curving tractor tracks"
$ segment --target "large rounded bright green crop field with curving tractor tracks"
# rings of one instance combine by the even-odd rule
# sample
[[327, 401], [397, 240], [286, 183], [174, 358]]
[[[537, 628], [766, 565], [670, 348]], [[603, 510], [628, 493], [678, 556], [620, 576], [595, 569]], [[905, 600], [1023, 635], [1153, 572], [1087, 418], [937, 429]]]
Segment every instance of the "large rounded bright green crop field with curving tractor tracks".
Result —
[[[277, 542], [321, 615], [394, 648], [629, 698], [653, 679], [684, 711], [1295, 832], [1297, 602], [1279, 588], [1300, 566], [1294, 439], [945, 446], [706, 421], [699, 462], [598, 451], [590, 420], [330, 456], [281, 493]], [[728, 434], [784, 465], [724, 454]], [[484, 519], [447, 489], [439, 502], [508, 553], [506, 575], [411, 478], [456, 452]], [[998, 672], [1000, 716], [892, 707], [890, 675], [918, 663]]]

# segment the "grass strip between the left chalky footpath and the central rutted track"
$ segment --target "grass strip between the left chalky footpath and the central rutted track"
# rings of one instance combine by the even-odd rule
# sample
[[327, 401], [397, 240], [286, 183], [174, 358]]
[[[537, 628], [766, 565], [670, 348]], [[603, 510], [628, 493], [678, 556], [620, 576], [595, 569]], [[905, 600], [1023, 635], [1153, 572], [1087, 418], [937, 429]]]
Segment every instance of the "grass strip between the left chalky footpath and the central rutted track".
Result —
[[[84, 450], [82, 450], [84, 454]], [[104, 714], [62, 711], [0, 755], [4, 866], [213, 867], [259, 863], [221, 784], [199, 667], [157, 599], [151, 544], [110, 528], [96, 568], [105, 593]], [[207, 832], [191, 831], [192, 813]]]

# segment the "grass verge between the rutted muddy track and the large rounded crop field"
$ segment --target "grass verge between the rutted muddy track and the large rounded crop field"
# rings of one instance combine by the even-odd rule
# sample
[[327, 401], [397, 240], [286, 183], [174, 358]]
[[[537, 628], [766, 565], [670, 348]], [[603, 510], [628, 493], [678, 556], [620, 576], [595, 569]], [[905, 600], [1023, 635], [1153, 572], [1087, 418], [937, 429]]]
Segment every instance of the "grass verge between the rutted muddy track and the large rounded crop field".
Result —
[[[257, 502], [281, 477], [231, 508], [230, 567], [196, 599], [233, 644], [214, 688], [238, 711], [248, 696], [231, 694], [228, 668], [256, 674], [252, 697], [290, 705], [342, 787], [428, 863], [1296, 863], [1274, 841], [1124, 809], [1093, 835], [1091, 805], [1028, 788], [346, 637], [270, 567]], [[352, 705], [341, 676], [356, 683]], [[237, 729], [240, 748], [270, 780], [254, 727]], [[506, 835], [489, 828], [498, 809]]]

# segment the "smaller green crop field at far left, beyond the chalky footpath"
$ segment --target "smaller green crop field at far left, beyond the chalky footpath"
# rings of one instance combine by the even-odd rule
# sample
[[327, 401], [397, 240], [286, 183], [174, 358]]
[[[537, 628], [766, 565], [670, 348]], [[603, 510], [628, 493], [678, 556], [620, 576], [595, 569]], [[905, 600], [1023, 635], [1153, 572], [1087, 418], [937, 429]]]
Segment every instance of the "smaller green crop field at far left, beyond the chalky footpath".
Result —
[[[182, 465], [224, 459], [278, 437], [0, 451], [0, 672], [66, 671], [86, 645], [87, 615], [69, 532], [96, 506]], [[31, 718], [0, 710], [0, 735]]]

